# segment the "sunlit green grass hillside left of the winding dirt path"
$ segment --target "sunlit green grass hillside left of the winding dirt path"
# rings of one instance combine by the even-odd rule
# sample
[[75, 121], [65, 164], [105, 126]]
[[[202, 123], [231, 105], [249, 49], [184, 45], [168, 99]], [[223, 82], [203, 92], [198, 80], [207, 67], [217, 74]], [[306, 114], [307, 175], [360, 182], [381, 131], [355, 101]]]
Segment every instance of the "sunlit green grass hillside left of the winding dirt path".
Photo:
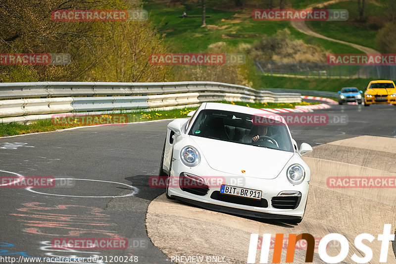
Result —
[[[144, 8], [150, 13], [149, 19], [153, 20], [159, 32], [164, 36], [165, 43], [171, 47], [172, 50], [169, 52], [205, 52], [210, 44], [216, 42], [225, 42], [230, 47], [237, 47], [240, 43], [251, 44], [260, 40], [264, 35], [271, 36], [278, 30], [288, 28], [296, 39], [320, 46], [329, 52], [361, 53], [348, 45], [307, 36], [294, 29], [289, 21], [254, 21], [250, 16], [251, 10], [231, 12], [206, 8], [206, 14], [211, 15], [210, 18], [206, 18], [206, 24], [218, 27], [210, 29], [210, 26], [201, 27], [200, 17], [178, 17], [184, 11], [183, 6], [164, 7], [159, 3], [147, 3]], [[201, 8], [199, 7], [188, 11], [188, 15], [200, 14]], [[235, 14], [245, 16], [235, 16]]]

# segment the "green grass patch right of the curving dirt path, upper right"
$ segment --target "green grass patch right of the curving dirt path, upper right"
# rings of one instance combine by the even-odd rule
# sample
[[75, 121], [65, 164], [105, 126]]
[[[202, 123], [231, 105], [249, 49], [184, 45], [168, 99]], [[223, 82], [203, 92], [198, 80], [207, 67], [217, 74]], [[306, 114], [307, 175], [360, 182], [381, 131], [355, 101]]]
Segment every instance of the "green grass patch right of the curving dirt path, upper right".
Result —
[[[357, 22], [358, 11], [356, 1], [342, 1], [327, 6], [330, 9], [347, 9], [349, 17], [347, 21], [306, 21], [306, 25], [321, 35], [329, 38], [342, 40], [376, 50], [376, 35], [379, 25], [373, 22]], [[384, 7], [366, 1], [366, 15], [371, 20], [381, 20], [384, 15]], [[345, 51], [336, 51], [336, 53], [346, 53]], [[361, 53], [361, 52], [360, 52]]]

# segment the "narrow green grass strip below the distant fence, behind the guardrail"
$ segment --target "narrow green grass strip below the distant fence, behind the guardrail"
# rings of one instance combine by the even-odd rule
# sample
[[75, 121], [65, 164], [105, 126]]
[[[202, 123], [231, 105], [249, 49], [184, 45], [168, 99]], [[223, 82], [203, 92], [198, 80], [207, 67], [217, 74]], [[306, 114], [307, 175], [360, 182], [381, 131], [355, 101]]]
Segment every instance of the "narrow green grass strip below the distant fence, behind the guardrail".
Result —
[[278, 76], [260, 76], [257, 87], [260, 88], [283, 88], [300, 90], [317, 90], [338, 92], [343, 87], [357, 87], [363, 89], [371, 79], [304, 79]]

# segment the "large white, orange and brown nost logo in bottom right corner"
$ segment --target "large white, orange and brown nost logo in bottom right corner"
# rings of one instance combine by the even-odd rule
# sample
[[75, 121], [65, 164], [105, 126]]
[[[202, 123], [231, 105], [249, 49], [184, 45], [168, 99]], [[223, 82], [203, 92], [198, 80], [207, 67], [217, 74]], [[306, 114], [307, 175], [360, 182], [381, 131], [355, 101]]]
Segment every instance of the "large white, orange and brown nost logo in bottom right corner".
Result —
[[[387, 262], [388, 259], [388, 251], [389, 251], [389, 242], [395, 240], [395, 234], [391, 232], [392, 225], [384, 224], [383, 234], [379, 234], [377, 240], [381, 241], [381, 252], [380, 252], [380, 263]], [[284, 234], [276, 234], [275, 235], [275, 245], [274, 252], [272, 257], [272, 263], [281, 263], [282, 249], [283, 249], [283, 239]], [[364, 240], [368, 242], [372, 242], [375, 237], [371, 234], [360, 234], [356, 236], [354, 240], [354, 246], [357, 250], [363, 253], [364, 257], [359, 257], [356, 254], [353, 254], [351, 257], [352, 261], [356, 263], [368, 263], [371, 262], [373, 258], [373, 251], [370, 247], [363, 244]], [[315, 238], [308, 233], [302, 233], [299, 235], [290, 234], [288, 239], [288, 246], [286, 252], [286, 262], [293, 263], [295, 249], [297, 245], [297, 241], [305, 240], [307, 243], [306, 246], [306, 254], [305, 254], [305, 262], [312, 263], [313, 262], [313, 253], [315, 249]], [[329, 243], [336, 241], [340, 245], [340, 253], [337, 256], [329, 256], [327, 254], [326, 248]], [[256, 263], [256, 253], [257, 253], [257, 244], [258, 244], [258, 234], [250, 234], [250, 244], [249, 251], [247, 256], [247, 263]], [[263, 234], [262, 237], [262, 246], [260, 253], [260, 261], [259, 263], [268, 263], [269, 258], [269, 250], [271, 247], [271, 234]], [[349, 254], [349, 242], [347, 238], [338, 233], [331, 233], [324, 236], [318, 245], [318, 254], [319, 258], [325, 263], [340, 263], [345, 260], [347, 255]]]

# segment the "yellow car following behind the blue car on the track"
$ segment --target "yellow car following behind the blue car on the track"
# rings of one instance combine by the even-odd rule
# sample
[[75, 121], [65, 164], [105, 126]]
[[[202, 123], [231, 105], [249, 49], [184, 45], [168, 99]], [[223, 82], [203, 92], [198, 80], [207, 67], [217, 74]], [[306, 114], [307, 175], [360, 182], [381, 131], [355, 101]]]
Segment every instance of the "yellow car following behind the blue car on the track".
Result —
[[364, 93], [364, 106], [393, 104], [396, 106], [396, 86], [393, 81], [371, 81]]

